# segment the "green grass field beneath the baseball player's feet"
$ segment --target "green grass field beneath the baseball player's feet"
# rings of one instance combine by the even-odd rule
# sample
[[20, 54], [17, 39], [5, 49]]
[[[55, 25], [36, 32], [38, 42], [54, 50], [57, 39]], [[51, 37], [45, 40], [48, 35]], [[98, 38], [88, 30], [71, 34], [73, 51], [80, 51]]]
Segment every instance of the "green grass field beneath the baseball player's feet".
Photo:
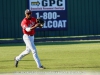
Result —
[[[100, 71], [100, 41], [69, 41], [35, 43], [42, 71], [92, 70]], [[0, 73], [41, 71], [37, 69], [32, 54], [25, 56], [19, 67], [14, 57], [25, 49], [24, 43], [0, 44]]]

